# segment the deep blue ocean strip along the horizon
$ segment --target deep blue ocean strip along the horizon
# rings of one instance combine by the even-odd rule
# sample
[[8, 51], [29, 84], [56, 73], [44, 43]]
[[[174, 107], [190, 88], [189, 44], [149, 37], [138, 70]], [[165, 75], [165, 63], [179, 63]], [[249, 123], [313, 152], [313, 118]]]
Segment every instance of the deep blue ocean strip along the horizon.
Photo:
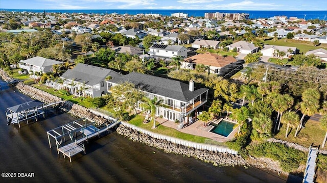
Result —
[[[43, 12], [43, 10], [28, 10], [28, 9], [0, 9], [0, 11], [27, 11], [27, 12]], [[251, 19], [256, 18], [269, 18], [273, 16], [285, 15], [288, 17], [295, 16], [297, 18], [306, 18], [309, 19], [321, 19], [326, 20], [327, 18], [327, 11], [253, 11], [253, 10], [115, 10], [115, 9], [108, 9], [108, 10], [46, 10], [45, 12], [55, 12], [55, 13], [95, 13], [95, 14], [111, 14], [111, 13], [118, 13], [118, 14], [130, 14], [136, 15], [138, 13], [153, 13], [153, 14], [161, 14], [170, 16], [172, 13], [183, 12], [188, 13], [189, 16], [195, 17], [202, 17], [204, 13], [248, 13], [250, 14]]]

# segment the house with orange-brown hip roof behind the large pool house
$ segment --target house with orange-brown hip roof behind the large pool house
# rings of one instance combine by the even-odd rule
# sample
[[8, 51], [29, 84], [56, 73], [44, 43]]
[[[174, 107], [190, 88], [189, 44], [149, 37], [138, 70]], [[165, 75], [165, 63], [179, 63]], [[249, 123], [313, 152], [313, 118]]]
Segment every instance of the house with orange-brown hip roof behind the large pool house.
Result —
[[210, 73], [231, 76], [243, 68], [243, 63], [243, 60], [235, 59], [232, 56], [222, 57], [213, 53], [205, 53], [184, 59], [181, 62], [181, 68], [194, 70], [196, 65], [202, 64], [208, 67]]

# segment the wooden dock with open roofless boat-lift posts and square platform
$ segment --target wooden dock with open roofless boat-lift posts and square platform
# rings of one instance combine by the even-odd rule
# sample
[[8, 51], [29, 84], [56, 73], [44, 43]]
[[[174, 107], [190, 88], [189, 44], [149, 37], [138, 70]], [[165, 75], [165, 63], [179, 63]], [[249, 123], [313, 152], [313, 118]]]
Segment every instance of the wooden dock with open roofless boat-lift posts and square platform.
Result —
[[[73, 123], [73, 122], [72, 122]], [[76, 121], [74, 121], [74, 123], [76, 123]], [[72, 162], [72, 157], [82, 151], [84, 151], [84, 154], [86, 154], [86, 151], [85, 151], [85, 141], [88, 141], [89, 139], [91, 138], [94, 138], [96, 136], [98, 136], [100, 138], [100, 134], [106, 132], [107, 130], [109, 130], [110, 128], [114, 127], [115, 125], [119, 124], [120, 121], [116, 120], [115, 122], [113, 123], [110, 123], [109, 125], [107, 125], [106, 127], [103, 127], [101, 129], [97, 128], [95, 125], [94, 125], [94, 122], [90, 124], [86, 124], [84, 126], [81, 126], [79, 128], [75, 128], [72, 126], [71, 129], [67, 129], [67, 131], [69, 131], [68, 133], [69, 134], [74, 134], [76, 132], [79, 132], [82, 134], [82, 138], [79, 138], [79, 139], [75, 139], [75, 141], [73, 141], [72, 139], [72, 142], [69, 143], [69, 144], [66, 144], [62, 147], [59, 147], [59, 145], [61, 144], [58, 143], [57, 141], [57, 138], [60, 138], [62, 136], [64, 136], [65, 134], [62, 134], [58, 137], [54, 137], [56, 138], [56, 145], [57, 145], [57, 152], [58, 154], [60, 154], [60, 152], [63, 154], [63, 157], [66, 158], [66, 156], [69, 158], [69, 161]], [[67, 127], [67, 126], [71, 126], [70, 124], [65, 124], [62, 126], [62, 128], [64, 127]], [[60, 128], [60, 127], [57, 127], [57, 128]], [[51, 131], [51, 130], [50, 130]], [[51, 135], [48, 131], [48, 138], [49, 138], [49, 135]], [[51, 135], [52, 136], [52, 135]], [[53, 136], [52, 136], [53, 137]], [[50, 144], [50, 139], [49, 139], [49, 144]], [[50, 148], [51, 148], [51, 144], [50, 144]]]

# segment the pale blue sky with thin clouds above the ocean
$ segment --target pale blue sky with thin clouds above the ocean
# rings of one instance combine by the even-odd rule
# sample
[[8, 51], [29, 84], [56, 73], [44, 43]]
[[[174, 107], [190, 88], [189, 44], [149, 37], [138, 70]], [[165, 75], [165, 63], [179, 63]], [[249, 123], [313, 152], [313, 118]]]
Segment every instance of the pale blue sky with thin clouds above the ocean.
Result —
[[0, 0], [0, 9], [327, 10], [326, 0]]

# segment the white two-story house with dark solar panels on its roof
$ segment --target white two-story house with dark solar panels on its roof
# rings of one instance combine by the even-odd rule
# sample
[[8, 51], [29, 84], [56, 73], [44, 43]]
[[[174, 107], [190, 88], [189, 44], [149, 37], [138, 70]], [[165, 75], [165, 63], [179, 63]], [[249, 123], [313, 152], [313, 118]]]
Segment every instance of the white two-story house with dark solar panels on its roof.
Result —
[[149, 49], [148, 54], [154, 57], [171, 59], [174, 56], [181, 56], [183, 58], [188, 56], [188, 49], [179, 45], [154, 44]]

